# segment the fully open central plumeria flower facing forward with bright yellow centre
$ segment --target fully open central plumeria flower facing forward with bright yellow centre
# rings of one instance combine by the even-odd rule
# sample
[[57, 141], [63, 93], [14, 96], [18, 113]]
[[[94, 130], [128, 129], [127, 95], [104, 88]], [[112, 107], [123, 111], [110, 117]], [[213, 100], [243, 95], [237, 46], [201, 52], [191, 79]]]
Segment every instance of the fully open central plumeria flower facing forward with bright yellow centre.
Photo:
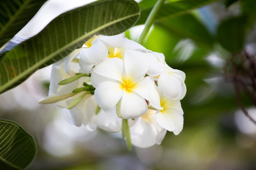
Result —
[[124, 61], [108, 58], [93, 68], [91, 75], [95, 98], [99, 106], [110, 112], [120, 101], [120, 113], [124, 119], [133, 119], [147, 110], [149, 90], [154, 86], [153, 77], [147, 76], [148, 53], [126, 50]]

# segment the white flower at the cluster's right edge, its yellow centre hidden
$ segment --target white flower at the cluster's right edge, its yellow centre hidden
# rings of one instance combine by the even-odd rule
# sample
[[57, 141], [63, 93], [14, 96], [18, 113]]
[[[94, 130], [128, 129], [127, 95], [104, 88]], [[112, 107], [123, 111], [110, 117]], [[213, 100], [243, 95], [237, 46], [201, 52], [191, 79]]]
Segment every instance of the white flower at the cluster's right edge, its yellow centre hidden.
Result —
[[181, 100], [186, 95], [186, 75], [166, 64], [166, 69], [159, 75], [157, 86], [164, 96], [171, 100]]

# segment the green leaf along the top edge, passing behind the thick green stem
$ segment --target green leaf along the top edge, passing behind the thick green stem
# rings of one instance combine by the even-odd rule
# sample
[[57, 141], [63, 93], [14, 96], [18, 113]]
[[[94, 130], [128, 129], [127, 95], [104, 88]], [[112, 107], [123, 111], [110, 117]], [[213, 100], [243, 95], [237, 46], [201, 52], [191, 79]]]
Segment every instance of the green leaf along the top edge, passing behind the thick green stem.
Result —
[[[144, 24], [150, 11], [152, 10], [156, 0], [144, 0], [140, 4], [141, 16], [136, 25]], [[166, 0], [162, 5], [161, 9], [158, 11], [155, 22], [159, 22], [168, 18], [173, 18], [178, 15], [182, 15], [192, 9], [202, 7], [211, 2], [216, 2], [218, 0]]]

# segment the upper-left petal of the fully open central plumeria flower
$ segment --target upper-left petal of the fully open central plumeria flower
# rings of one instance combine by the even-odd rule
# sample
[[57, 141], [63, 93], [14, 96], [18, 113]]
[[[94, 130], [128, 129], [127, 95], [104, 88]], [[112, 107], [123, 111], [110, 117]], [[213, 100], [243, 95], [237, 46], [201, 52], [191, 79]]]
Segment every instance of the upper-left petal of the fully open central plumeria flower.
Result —
[[103, 62], [97, 64], [93, 71], [104, 77], [121, 81], [123, 72], [123, 61], [120, 58], [106, 58]]

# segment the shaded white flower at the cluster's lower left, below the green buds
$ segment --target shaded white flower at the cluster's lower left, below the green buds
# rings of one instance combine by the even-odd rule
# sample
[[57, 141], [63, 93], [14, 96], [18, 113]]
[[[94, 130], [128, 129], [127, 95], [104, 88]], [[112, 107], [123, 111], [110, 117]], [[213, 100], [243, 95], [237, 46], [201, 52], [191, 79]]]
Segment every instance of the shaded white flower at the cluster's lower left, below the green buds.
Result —
[[[67, 102], [72, 102], [72, 100]], [[95, 115], [97, 107], [98, 104], [94, 95], [86, 95], [74, 108], [63, 109], [63, 115], [70, 124], [75, 126], [83, 125], [86, 129], [94, 131], [97, 130], [97, 117]]]

